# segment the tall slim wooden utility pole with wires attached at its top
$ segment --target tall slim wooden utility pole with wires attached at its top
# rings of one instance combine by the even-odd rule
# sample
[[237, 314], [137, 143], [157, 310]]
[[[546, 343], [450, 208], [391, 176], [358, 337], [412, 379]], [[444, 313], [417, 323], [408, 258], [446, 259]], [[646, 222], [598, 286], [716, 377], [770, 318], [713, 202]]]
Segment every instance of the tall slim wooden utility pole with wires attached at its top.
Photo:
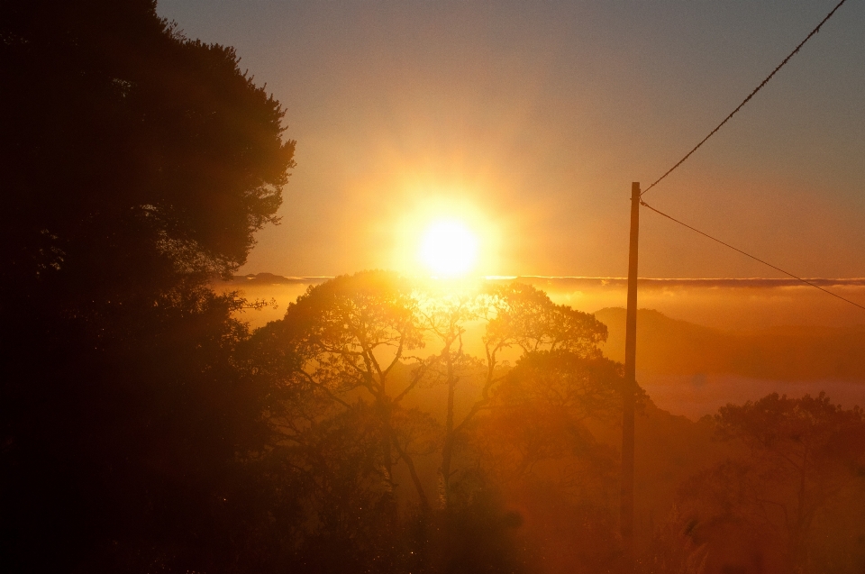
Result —
[[631, 247], [628, 251], [628, 314], [624, 334], [624, 390], [622, 392], [622, 491], [619, 528], [625, 569], [633, 572], [633, 400], [637, 378], [637, 244], [640, 235], [640, 182], [631, 184]]

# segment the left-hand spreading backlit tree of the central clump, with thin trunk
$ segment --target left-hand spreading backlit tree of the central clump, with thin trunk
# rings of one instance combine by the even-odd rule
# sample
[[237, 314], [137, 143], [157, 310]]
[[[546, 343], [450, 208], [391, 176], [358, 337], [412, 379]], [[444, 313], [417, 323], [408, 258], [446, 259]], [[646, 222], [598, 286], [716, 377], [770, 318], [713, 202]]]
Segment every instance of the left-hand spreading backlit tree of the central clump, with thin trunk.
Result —
[[[289, 305], [282, 321], [270, 323], [256, 338], [265, 345], [259, 354], [273, 352], [273, 356], [284, 358], [269, 375], [271, 385], [308, 388], [329, 399], [319, 407], [331, 412], [351, 408], [357, 400], [371, 400], [378, 416], [378, 472], [381, 480], [390, 485], [387, 496], [396, 487], [396, 457], [410, 469], [425, 505], [410, 452], [397, 441], [394, 425], [402, 400], [432, 362], [411, 354], [423, 347], [413, 291], [411, 282], [384, 271], [334, 278], [310, 287]], [[407, 380], [396, 376], [404, 374], [406, 364], [411, 366]], [[291, 410], [294, 407], [287, 408], [287, 419], [296, 420]], [[307, 418], [308, 424], [313, 424], [314, 416]], [[408, 418], [404, 414], [398, 420]], [[391, 509], [396, 520], [395, 501]]]

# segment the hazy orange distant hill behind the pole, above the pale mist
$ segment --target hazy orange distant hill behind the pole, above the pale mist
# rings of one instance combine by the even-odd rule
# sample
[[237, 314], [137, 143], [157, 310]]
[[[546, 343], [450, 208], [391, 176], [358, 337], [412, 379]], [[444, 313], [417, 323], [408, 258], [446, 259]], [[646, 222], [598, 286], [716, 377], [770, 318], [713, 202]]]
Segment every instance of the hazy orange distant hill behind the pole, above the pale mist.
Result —
[[[595, 316], [609, 329], [605, 354], [624, 360], [625, 310]], [[637, 312], [637, 369], [689, 377], [735, 375], [776, 380], [865, 381], [865, 327], [773, 327], [721, 331], [651, 309]]]

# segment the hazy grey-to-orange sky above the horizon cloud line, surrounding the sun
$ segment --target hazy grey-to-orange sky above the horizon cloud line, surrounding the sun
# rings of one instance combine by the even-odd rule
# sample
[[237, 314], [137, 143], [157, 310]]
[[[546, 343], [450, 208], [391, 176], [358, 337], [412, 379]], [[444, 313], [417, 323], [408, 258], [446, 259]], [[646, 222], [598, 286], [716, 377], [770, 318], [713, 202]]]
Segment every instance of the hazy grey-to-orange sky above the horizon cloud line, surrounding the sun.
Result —
[[[160, 0], [282, 103], [296, 169], [242, 273], [409, 271], [423, 227], [478, 273], [623, 277], [632, 181], [706, 136], [836, 0]], [[865, 276], [865, 2], [848, 0], [658, 209], [803, 277]], [[779, 277], [643, 210], [640, 275]]]

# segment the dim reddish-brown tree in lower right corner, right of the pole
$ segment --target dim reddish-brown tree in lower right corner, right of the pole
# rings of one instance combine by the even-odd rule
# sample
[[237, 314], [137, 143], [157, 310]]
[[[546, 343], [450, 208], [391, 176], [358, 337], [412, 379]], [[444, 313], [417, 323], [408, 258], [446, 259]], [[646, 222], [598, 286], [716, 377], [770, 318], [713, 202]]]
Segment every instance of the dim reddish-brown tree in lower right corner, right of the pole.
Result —
[[861, 409], [823, 393], [774, 393], [724, 406], [715, 422], [742, 454], [690, 478], [679, 495], [690, 543], [706, 546], [706, 571], [825, 571], [818, 548], [834, 557], [833, 571], [860, 568], [865, 553], [852, 557], [858, 542], [840, 525], [865, 501]]

